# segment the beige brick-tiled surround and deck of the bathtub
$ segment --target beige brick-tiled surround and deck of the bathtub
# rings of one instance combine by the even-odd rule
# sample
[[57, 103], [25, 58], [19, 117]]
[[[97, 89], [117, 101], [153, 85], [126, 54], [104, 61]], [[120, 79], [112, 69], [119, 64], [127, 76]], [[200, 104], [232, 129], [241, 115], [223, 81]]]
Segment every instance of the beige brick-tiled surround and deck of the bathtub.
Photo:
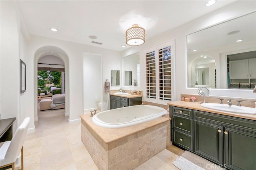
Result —
[[94, 125], [89, 115], [81, 115], [82, 142], [100, 170], [134, 169], [166, 149], [169, 117], [109, 129]]

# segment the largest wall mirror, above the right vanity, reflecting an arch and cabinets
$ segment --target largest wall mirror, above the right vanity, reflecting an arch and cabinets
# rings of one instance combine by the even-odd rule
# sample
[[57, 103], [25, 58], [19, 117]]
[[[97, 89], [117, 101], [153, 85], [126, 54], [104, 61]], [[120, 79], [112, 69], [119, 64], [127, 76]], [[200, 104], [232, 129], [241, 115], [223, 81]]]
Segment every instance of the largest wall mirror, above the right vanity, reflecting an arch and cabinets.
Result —
[[256, 12], [187, 35], [188, 88], [253, 89]]

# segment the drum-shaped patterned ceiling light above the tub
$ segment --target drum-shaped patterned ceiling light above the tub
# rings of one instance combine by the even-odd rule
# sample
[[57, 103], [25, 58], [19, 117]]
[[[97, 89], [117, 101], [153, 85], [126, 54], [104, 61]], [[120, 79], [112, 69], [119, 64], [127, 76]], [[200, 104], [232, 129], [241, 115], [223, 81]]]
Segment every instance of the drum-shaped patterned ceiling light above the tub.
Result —
[[146, 31], [138, 24], [132, 25], [125, 32], [126, 44], [130, 46], [142, 45], [145, 43]]

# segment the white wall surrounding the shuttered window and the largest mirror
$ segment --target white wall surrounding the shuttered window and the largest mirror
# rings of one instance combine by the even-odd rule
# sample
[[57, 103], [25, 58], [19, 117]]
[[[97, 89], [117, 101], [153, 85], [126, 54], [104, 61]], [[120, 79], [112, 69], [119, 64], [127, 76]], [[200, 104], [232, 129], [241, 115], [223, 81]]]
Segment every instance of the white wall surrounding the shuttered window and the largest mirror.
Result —
[[[194, 33], [216, 23], [226, 21], [244, 14], [248, 14], [256, 10], [255, 1], [236, 1], [232, 4], [224, 6], [214, 12], [206, 14], [196, 20], [190, 21], [184, 25], [180, 25], [170, 31], [162, 33], [152, 39], [146, 39], [146, 43], [139, 46], [138, 51], [140, 51], [140, 70], [141, 70], [141, 90], [146, 90], [145, 87], [145, 49], [164, 43], [171, 39], [175, 40], [175, 76], [174, 80], [176, 86], [176, 100], [180, 100], [180, 94], [197, 94], [196, 88], [187, 88], [187, 66], [186, 66], [186, 35]], [[170, 21], [172, 20], [170, 16]], [[127, 56], [134, 53], [135, 49], [127, 49], [122, 51], [122, 56]], [[211, 96], [230, 96], [230, 97], [240, 97], [240, 98], [254, 98], [255, 94], [251, 90], [230, 90], [230, 89], [210, 89]], [[143, 98], [146, 100], [146, 98]]]

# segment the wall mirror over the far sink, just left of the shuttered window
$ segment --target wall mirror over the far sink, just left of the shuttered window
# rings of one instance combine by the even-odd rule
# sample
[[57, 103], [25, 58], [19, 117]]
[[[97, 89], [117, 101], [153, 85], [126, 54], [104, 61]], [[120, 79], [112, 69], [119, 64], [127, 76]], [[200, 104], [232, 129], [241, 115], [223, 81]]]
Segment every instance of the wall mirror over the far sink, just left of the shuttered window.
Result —
[[123, 85], [140, 86], [140, 54], [123, 57]]

